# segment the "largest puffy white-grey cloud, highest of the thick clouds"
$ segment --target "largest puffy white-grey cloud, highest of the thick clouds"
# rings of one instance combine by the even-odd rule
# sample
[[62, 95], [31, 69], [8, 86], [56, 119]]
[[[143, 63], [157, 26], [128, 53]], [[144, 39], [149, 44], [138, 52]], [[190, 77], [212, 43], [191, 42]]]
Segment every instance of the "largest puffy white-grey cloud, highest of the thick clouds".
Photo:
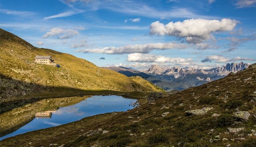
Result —
[[183, 22], [169, 22], [164, 25], [159, 21], [150, 25], [151, 35], [168, 35], [185, 38], [188, 43], [201, 43], [207, 39], [213, 39], [213, 32], [232, 31], [238, 21], [231, 19], [208, 20], [187, 19]]

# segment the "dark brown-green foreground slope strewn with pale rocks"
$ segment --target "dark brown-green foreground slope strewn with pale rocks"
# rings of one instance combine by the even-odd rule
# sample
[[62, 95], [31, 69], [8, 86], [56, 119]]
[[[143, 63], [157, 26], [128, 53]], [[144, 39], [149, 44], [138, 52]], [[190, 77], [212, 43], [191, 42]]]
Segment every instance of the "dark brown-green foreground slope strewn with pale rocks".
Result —
[[255, 147], [255, 97], [256, 64], [127, 112], [10, 137], [1, 146]]

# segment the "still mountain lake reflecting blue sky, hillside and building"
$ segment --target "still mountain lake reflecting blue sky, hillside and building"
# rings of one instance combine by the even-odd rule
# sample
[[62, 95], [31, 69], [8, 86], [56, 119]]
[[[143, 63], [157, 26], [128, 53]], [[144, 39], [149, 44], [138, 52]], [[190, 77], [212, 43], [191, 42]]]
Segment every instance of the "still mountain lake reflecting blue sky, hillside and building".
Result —
[[[57, 99], [55, 99], [55, 100], [57, 101]], [[49, 102], [49, 100], [46, 101], [46, 102], [49, 102], [50, 104], [49, 104], [49, 106], [47, 106], [47, 104], [46, 104], [44, 109], [41, 108], [38, 111], [35, 109], [34, 112], [32, 110], [29, 111], [29, 114], [26, 114], [24, 117], [26, 117], [26, 116], [31, 117], [32, 121], [28, 120], [27, 124], [23, 125], [22, 127], [17, 129], [13, 133], [9, 133], [9, 134], [1, 137], [0, 140], [3, 140], [4, 138], [8, 138], [11, 136], [15, 136], [18, 134], [23, 134], [23, 133], [26, 133], [29, 131], [45, 129], [45, 128], [49, 128], [49, 127], [53, 127], [53, 126], [57, 126], [57, 125], [66, 124], [69, 122], [74, 122], [74, 121], [77, 121], [77, 120], [80, 120], [82, 118], [92, 116], [92, 115], [98, 115], [98, 114], [103, 114], [103, 113], [113, 112], [113, 111], [127, 111], [129, 109], [132, 109], [133, 106], [131, 106], [131, 104], [136, 102], [136, 100], [127, 99], [127, 98], [123, 98], [120, 96], [93, 96], [93, 97], [83, 99], [80, 102], [78, 101], [77, 104], [73, 104], [73, 105], [70, 105], [67, 107], [62, 107], [62, 105], [64, 105], [63, 101], [65, 101], [65, 99], [63, 99], [63, 101], [61, 103], [62, 105], [59, 106], [61, 108], [58, 108], [58, 105], [53, 104], [53, 101], [55, 101], [55, 100], [51, 99], [51, 103]], [[40, 104], [40, 101], [37, 103]], [[68, 103], [70, 103], [70, 98], [69, 98]], [[38, 104], [36, 107], [38, 107]], [[58, 102], [58, 104], [60, 104], [60, 102]], [[33, 107], [33, 104], [30, 104], [30, 105], [31, 105], [31, 107]], [[26, 111], [26, 108], [28, 108], [26, 106], [24, 106], [24, 107], [25, 108], [23, 108], [23, 109], [25, 109], [25, 110], [22, 110], [22, 111]], [[49, 110], [41, 111], [41, 110], [45, 110], [47, 108], [49, 108]], [[50, 109], [50, 108], [52, 108], [52, 109]], [[30, 108], [30, 109], [32, 109], [32, 108]], [[15, 117], [15, 114], [19, 113], [19, 111], [21, 111], [21, 110], [19, 110], [19, 109], [18, 109], [18, 111], [12, 110], [11, 112], [9, 112], [8, 115], [12, 115], [13, 117]], [[8, 112], [6, 112], [6, 113], [8, 113]], [[5, 114], [5, 115], [7, 115], [7, 114]], [[34, 115], [34, 116], [31, 116], [31, 115]], [[11, 119], [12, 116], [8, 116], [10, 121], [13, 120], [13, 119]], [[4, 118], [5, 118], [4, 114], [1, 114], [1, 119], [4, 119]], [[20, 118], [19, 121], [21, 121], [23, 119]], [[17, 120], [16, 120], [16, 122], [12, 122], [10, 126], [15, 126], [16, 123], [17, 123]], [[19, 122], [19, 123], [21, 123], [21, 122]], [[11, 130], [14, 128], [14, 127], [10, 127], [10, 126], [8, 125], [8, 127], [9, 127], [8, 130]], [[17, 126], [15, 126], [15, 127], [17, 127]], [[3, 127], [5, 127], [5, 126], [1, 126], [2, 129], [3, 129]]]

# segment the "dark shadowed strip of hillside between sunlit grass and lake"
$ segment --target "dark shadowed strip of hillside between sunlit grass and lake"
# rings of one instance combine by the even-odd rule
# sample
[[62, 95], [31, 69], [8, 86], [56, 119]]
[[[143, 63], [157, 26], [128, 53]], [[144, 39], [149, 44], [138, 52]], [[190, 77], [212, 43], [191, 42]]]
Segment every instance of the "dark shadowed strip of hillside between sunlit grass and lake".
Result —
[[111, 90], [82, 90], [64, 86], [45, 86], [23, 82], [0, 74], [0, 114], [45, 98], [83, 97], [120, 94]]

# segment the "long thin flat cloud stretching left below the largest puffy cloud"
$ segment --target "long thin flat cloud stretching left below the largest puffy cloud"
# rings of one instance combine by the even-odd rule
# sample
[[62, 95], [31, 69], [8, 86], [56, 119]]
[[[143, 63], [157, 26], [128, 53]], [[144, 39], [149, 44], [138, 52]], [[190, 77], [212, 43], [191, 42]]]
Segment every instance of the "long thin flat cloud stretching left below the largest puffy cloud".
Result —
[[83, 49], [76, 50], [76, 52], [83, 53], [101, 53], [101, 54], [131, 54], [131, 53], [149, 53], [152, 50], [167, 50], [167, 49], [184, 49], [186, 44], [180, 44], [175, 42], [169, 43], [147, 43], [126, 45], [123, 47], [104, 47], [101, 49]]

